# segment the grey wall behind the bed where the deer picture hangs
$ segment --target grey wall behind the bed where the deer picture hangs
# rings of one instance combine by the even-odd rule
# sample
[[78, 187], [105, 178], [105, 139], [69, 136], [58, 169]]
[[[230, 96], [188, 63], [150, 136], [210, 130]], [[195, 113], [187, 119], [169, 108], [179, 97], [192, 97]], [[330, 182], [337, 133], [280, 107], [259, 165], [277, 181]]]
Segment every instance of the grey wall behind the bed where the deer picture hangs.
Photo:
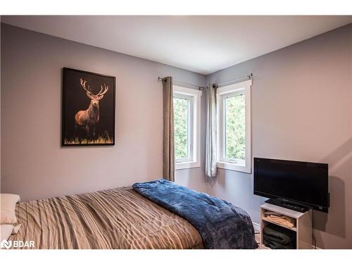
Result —
[[[115, 146], [61, 147], [61, 69], [116, 76]], [[163, 172], [163, 101], [157, 77], [205, 77], [113, 51], [1, 24], [1, 192], [23, 200], [75, 194]], [[4, 77], [6, 76], [6, 77]], [[201, 169], [177, 180], [205, 191]], [[199, 182], [198, 182], [199, 181]]]

